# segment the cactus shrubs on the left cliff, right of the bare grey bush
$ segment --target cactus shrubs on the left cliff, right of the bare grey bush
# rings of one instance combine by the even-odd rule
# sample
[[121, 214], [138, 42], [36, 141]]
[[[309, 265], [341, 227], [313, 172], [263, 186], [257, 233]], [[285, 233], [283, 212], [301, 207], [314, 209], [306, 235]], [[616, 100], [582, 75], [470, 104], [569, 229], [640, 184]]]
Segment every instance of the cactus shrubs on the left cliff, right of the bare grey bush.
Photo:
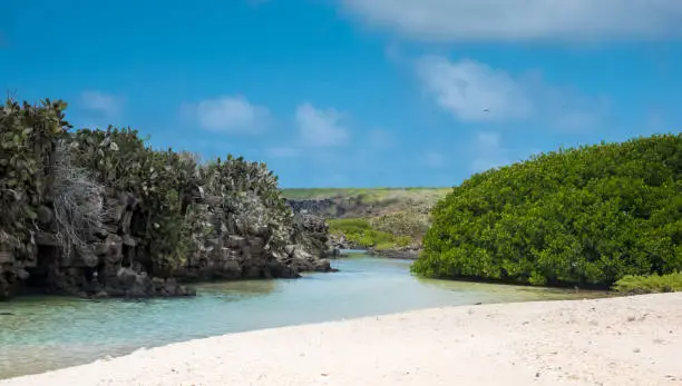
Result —
[[[210, 237], [225, 231], [267, 229], [275, 249], [289, 241], [292, 212], [265, 164], [228, 155], [199, 165], [183, 152], [153, 150], [135, 130], [113, 127], [78, 130], [70, 149], [105, 186], [140, 199], [131, 230], [156, 275], [172, 275], [188, 256], [204, 250]], [[207, 197], [208, 208], [197, 208]]]

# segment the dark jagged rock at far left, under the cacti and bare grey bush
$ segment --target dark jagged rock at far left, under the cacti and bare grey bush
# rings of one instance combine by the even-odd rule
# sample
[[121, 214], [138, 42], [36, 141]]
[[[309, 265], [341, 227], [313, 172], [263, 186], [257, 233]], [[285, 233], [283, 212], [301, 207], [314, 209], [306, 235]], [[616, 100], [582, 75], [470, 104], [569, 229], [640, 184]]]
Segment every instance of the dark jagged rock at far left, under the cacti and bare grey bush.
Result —
[[33, 253], [28, 259], [2, 255], [0, 298], [29, 286], [42, 293], [92, 297], [174, 297], [194, 290], [175, 278], [152, 277], [136, 261], [138, 241], [130, 222], [138, 200], [131, 195], [107, 195], [111, 209], [106, 222], [90, 231], [88, 246], [65, 250], [56, 216], [49, 206], [38, 210], [40, 229], [32, 232]]

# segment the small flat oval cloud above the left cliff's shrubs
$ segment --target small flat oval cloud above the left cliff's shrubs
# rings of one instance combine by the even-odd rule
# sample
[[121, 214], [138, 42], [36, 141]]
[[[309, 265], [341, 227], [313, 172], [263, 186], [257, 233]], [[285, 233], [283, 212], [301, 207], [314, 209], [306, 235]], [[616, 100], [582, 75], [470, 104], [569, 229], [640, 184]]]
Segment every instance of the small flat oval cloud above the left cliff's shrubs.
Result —
[[189, 110], [203, 129], [214, 132], [257, 132], [267, 126], [271, 118], [267, 108], [252, 105], [242, 96], [205, 99], [191, 106]]

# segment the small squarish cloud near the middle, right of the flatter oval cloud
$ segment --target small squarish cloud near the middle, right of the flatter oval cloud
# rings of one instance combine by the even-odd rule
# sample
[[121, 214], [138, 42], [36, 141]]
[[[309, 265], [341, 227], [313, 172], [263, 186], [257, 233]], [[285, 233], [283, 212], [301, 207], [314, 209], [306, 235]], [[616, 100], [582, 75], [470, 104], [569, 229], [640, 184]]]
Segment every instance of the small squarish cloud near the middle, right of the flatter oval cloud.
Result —
[[348, 129], [341, 125], [341, 115], [334, 109], [316, 109], [311, 103], [296, 108], [296, 125], [304, 145], [313, 147], [334, 147], [349, 140]]

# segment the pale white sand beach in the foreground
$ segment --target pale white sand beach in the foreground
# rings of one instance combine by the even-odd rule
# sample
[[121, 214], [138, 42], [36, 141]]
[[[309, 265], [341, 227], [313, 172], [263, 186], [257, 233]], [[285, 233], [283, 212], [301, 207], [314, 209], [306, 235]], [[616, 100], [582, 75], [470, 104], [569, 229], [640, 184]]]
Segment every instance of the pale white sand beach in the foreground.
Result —
[[265, 329], [0, 385], [682, 385], [682, 294]]

